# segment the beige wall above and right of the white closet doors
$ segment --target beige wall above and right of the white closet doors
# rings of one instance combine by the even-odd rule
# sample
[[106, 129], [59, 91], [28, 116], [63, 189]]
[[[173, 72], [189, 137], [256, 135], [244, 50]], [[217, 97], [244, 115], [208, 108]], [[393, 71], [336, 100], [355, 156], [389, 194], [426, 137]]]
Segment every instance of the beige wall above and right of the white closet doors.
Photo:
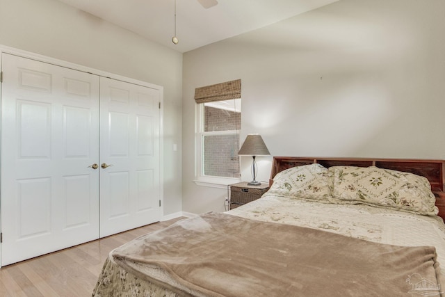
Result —
[[0, 0], [0, 45], [163, 86], [164, 214], [181, 211], [182, 54], [55, 0]]

